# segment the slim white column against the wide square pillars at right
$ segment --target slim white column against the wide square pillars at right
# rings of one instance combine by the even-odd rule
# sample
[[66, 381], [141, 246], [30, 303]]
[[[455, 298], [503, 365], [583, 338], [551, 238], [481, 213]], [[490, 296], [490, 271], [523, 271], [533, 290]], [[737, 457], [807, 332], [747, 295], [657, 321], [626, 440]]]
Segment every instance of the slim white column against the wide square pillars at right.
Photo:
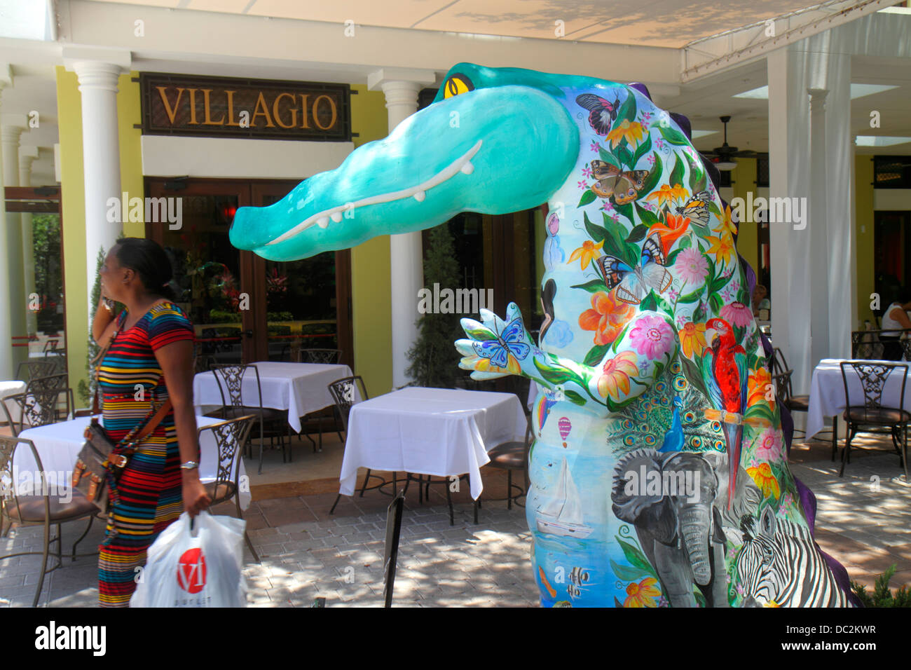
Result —
[[828, 90], [810, 88], [810, 365], [829, 356], [829, 244], [826, 204], [825, 97]]

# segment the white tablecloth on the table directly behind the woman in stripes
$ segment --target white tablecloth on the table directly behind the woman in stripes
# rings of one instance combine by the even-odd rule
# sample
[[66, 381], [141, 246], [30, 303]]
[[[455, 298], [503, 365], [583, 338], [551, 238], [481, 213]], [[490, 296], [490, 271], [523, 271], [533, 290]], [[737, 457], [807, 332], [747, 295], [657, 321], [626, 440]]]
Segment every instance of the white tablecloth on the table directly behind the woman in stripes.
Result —
[[[82, 449], [83, 432], [85, 431], [90, 417], [74, 418], [71, 421], [62, 421], [60, 423], [40, 426], [38, 428], [28, 428], [23, 430], [20, 438], [32, 440], [38, 451], [38, 457], [41, 459], [41, 465], [44, 466], [47, 487], [55, 490], [58, 482], [64, 482], [69, 486], [73, 479], [73, 467], [79, 458], [79, 451]], [[220, 418], [196, 417], [196, 423], [199, 428], [210, 426], [218, 423]], [[218, 470], [218, 448], [215, 444], [215, 438], [211, 431], [202, 433], [200, 440], [200, 480], [205, 483], [214, 481]], [[37, 467], [35, 459], [32, 458], [31, 451], [25, 445], [16, 448], [15, 454], [15, 472], [13, 476], [17, 483], [24, 483], [26, 480], [35, 481], [40, 476], [36, 475]], [[231, 469], [233, 474], [233, 469]], [[54, 481], [51, 481], [51, 478]], [[247, 478], [247, 470], [244, 468], [241, 459], [241, 509], [246, 510], [250, 507], [250, 479]], [[243, 486], [247, 482], [247, 486]]]

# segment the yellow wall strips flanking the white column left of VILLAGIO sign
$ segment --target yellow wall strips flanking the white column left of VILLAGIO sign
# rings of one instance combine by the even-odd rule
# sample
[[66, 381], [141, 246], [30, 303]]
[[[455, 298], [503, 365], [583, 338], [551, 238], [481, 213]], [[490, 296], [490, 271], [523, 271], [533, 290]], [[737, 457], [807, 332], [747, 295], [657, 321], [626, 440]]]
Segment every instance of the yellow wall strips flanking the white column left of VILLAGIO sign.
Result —
[[[130, 81], [136, 73], [118, 81], [118, 132], [120, 141], [121, 191], [143, 197], [139, 85]], [[57, 127], [60, 142], [61, 211], [63, 212], [64, 282], [67, 309], [67, 366], [74, 391], [87, 379], [88, 314], [86, 304], [92, 287], [86, 285], [86, 199], [82, 170], [82, 100], [74, 72], [56, 67]], [[124, 233], [144, 237], [144, 224], [127, 223]], [[77, 397], [77, 407], [82, 402]]]

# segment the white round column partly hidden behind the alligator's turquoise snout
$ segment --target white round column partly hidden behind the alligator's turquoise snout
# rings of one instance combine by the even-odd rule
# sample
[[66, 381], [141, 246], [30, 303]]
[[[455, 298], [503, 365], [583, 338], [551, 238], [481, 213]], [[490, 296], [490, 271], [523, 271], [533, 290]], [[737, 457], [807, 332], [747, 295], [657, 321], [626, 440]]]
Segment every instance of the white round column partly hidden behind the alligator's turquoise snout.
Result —
[[[417, 111], [417, 94], [435, 83], [431, 70], [384, 68], [367, 77], [367, 87], [382, 89], [389, 115], [389, 131]], [[389, 240], [392, 271], [393, 386], [408, 383], [408, 349], [417, 339], [417, 294], [424, 286], [424, 253], [421, 232], [391, 235]]]

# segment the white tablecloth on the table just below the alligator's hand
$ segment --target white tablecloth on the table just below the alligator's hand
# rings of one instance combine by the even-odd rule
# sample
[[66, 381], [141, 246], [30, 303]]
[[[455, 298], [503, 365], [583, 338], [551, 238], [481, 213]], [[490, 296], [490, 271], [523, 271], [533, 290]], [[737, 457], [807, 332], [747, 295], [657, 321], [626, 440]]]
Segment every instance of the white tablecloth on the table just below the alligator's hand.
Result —
[[348, 418], [342, 486], [350, 496], [357, 469], [447, 477], [468, 473], [471, 495], [484, 490], [487, 449], [523, 440], [525, 413], [515, 394], [406, 387], [357, 403]]

